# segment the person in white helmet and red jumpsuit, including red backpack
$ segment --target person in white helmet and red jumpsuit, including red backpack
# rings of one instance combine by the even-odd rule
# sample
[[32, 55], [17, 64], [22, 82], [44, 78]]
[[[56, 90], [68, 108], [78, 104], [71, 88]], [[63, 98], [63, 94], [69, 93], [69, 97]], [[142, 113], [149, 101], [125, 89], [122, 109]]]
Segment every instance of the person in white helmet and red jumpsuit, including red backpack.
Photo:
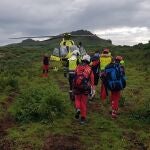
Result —
[[88, 94], [90, 94], [91, 88], [94, 90], [94, 75], [89, 64], [90, 56], [84, 55], [82, 63], [75, 70], [73, 83], [76, 108], [75, 118], [79, 119], [81, 115], [81, 124], [84, 124], [86, 121]]

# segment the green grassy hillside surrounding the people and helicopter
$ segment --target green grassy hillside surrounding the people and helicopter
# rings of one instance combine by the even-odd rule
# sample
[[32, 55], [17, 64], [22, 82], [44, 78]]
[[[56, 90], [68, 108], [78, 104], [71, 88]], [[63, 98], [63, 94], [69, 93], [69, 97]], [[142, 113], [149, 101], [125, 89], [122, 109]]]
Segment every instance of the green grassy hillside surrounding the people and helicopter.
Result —
[[[108, 46], [83, 41], [89, 50]], [[42, 54], [56, 41], [51, 46], [52, 41], [28, 42], [0, 48], [0, 149], [150, 149], [150, 43], [109, 45], [114, 56], [125, 59], [127, 87], [120, 115], [111, 119], [109, 99], [101, 103], [99, 85], [82, 126], [74, 119], [63, 72], [50, 70], [48, 78], [41, 78]]]

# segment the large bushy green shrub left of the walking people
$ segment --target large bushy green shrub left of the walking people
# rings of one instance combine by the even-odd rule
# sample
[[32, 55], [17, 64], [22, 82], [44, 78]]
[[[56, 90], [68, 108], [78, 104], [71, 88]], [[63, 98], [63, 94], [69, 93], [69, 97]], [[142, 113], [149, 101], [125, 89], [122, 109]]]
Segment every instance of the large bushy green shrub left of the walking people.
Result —
[[58, 115], [62, 116], [65, 112], [63, 95], [58, 91], [52, 86], [35, 86], [25, 89], [17, 97], [10, 111], [19, 122], [43, 120], [53, 122], [53, 119]]

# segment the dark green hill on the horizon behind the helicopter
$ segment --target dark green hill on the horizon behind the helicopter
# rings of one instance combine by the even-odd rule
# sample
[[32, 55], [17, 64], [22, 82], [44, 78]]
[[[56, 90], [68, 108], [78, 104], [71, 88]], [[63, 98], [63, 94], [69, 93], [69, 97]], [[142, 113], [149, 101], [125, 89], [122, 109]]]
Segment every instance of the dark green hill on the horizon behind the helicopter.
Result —
[[[70, 32], [72, 35], [94, 35], [86, 30], [78, 30]], [[87, 50], [91, 50], [93, 48], [103, 48], [109, 47], [112, 45], [111, 40], [101, 39], [99, 37], [91, 36], [91, 37], [72, 37], [76, 44], [82, 41], [83, 46]], [[60, 41], [62, 38], [57, 39], [49, 39], [45, 41], [34, 41], [32, 39], [23, 40], [19, 44], [13, 44], [13, 46], [25, 47], [25, 48], [36, 48], [36, 49], [45, 49], [45, 50], [53, 50], [55, 47], [59, 47]]]

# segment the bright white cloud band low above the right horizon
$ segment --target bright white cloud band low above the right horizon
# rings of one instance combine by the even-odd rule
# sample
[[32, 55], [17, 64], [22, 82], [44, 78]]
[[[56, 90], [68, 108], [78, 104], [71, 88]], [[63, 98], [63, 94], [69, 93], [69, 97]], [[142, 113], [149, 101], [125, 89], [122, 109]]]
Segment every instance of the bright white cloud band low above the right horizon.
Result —
[[150, 37], [150, 29], [147, 27], [121, 27], [106, 30], [95, 30], [95, 34], [104, 38], [112, 39], [115, 45], [134, 45], [147, 43]]

